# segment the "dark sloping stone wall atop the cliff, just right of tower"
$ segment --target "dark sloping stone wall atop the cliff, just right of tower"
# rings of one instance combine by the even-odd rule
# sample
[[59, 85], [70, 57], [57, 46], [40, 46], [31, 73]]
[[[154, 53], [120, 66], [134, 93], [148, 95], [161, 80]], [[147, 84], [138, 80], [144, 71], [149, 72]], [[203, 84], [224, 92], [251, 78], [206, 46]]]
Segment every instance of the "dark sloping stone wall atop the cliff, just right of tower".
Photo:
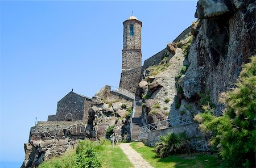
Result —
[[162, 51], [154, 54], [154, 56], [145, 60], [142, 66], [142, 70], [145, 70], [152, 65], [158, 65], [163, 60], [164, 56], [166, 56], [167, 52], [168, 52], [168, 49], [164, 48]]

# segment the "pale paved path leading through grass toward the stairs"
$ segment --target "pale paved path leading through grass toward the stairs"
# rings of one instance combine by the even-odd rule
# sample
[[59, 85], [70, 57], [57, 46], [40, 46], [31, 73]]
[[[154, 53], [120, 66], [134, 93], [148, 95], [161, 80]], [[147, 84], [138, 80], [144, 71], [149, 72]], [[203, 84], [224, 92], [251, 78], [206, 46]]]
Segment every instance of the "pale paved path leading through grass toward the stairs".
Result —
[[135, 168], [153, 168], [147, 161], [142, 158], [141, 154], [137, 153], [133, 148], [131, 148], [130, 143], [123, 143], [119, 145], [123, 150], [123, 153], [126, 154]]

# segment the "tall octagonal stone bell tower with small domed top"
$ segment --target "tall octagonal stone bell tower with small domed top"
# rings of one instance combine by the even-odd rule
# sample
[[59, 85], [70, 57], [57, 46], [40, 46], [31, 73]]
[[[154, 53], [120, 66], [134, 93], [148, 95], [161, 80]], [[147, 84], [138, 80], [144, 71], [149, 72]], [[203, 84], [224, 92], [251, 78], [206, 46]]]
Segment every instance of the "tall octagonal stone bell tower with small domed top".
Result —
[[123, 22], [122, 73], [119, 88], [135, 93], [141, 78], [142, 22], [130, 16]]

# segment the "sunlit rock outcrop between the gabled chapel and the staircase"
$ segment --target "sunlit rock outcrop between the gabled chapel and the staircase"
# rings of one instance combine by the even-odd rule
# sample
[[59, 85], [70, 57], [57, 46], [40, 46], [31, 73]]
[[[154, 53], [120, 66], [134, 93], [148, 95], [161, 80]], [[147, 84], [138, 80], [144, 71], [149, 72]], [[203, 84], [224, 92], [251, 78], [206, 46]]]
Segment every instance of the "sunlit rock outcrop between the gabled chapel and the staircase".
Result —
[[129, 119], [133, 99], [116, 95], [110, 86], [105, 86], [92, 98], [92, 104], [86, 126], [88, 137], [105, 138], [108, 127], [115, 125], [114, 131], [119, 140], [127, 141], [124, 137], [129, 138], [130, 135]]

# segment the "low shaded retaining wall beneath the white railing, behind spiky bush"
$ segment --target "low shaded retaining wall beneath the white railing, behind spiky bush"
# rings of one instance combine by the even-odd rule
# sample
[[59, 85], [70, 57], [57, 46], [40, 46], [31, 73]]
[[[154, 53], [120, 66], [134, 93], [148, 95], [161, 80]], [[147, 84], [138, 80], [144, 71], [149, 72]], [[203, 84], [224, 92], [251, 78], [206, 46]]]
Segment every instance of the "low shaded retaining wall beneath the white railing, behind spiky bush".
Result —
[[156, 131], [148, 132], [147, 144], [148, 146], [154, 146], [155, 142], [159, 141], [159, 136], [167, 135], [168, 132], [180, 133], [186, 131], [186, 135], [188, 138], [201, 137], [201, 132], [198, 129], [197, 123], [191, 123], [182, 125], [179, 127], [170, 127], [167, 129], [160, 129]]

